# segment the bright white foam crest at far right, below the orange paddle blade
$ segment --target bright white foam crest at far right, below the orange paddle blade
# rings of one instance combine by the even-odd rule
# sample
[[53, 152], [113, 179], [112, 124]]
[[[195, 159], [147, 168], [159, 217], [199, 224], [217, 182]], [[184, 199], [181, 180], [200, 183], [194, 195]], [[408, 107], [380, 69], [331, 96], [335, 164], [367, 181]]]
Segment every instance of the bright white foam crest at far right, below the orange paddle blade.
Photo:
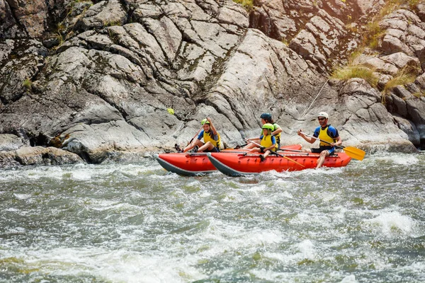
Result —
[[366, 223], [380, 226], [382, 233], [391, 235], [393, 233], [412, 233], [415, 221], [409, 216], [399, 212], [381, 212], [373, 219], [366, 219]]

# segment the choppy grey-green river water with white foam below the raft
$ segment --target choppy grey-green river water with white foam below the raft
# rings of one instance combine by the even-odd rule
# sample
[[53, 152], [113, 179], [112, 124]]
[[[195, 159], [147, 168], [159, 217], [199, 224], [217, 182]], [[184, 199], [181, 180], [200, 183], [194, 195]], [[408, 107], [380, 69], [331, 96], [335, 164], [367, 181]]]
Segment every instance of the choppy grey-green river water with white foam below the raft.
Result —
[[188, 178], [0, 171], [0, 282], [425, 282], [425, 154]]

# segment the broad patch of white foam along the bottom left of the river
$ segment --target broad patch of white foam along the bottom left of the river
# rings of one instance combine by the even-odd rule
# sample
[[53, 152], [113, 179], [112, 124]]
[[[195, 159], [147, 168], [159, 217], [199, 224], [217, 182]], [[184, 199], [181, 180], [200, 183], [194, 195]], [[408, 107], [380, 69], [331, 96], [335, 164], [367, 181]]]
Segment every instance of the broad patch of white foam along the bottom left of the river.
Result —
[[103, 248], [56, 248], [21, 255], [28, 270], [50, 276], [89, 275], [112, 282], [188, 282], [203, 279], [196, 258]]

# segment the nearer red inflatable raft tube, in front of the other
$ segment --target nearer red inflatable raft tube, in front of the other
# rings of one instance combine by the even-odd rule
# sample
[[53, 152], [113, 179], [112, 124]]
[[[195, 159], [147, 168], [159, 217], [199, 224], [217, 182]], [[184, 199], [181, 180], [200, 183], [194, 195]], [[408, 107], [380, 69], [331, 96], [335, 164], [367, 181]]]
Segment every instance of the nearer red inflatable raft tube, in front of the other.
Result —
[[[319, 158], [319, 154], [285, 154], [285, 156], [287, 158], [270, 155], [265, 161], [260, 162], [261, 159], [259, 154], [208, 153], [208, 158], [210, 158], [212, 165], [221, 173], [232, 177], [272, 170], [283, 172], [316, 168], [317, 159]], [[288, 158], [292, 159], [292, 161]], [[350, 161], [350, 156], [346, 155], [344, 152], [340, 152], [335, 156], [328, 156], [323, 166], [343, 167]]]

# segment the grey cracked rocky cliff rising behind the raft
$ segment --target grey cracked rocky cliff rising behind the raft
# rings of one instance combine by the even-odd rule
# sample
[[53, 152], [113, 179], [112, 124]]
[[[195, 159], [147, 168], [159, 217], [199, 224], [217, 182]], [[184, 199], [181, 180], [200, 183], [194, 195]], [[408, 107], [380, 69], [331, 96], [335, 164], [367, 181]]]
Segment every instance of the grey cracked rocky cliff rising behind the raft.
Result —
[[421, 1], [241, 2], [0, 0], [0, 164], [138, 158], [206, 116], [233, 146], [261, 112], [284, 144], [327, 111], [344, 144], [424, 146]]

